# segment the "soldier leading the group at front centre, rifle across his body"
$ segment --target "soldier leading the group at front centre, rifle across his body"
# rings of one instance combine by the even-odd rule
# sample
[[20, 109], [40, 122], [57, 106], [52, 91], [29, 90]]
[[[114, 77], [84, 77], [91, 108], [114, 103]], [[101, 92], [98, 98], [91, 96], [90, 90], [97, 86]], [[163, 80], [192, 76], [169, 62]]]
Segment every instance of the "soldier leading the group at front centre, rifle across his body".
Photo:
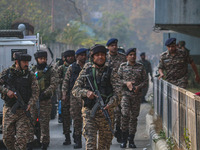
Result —
[[[110, 149], [113, 138], [108, 122], [105, 119], [102, 111], [97, 110], [95, 117], [92, 118], [92, 108], [95, 104], [96, 95], [92, 91], [89, 82], [85, 76], [91, 81], [93, 88], [98, 89], [102, 95], [104, 103], [110, 114], [112, 126], [114, 125], [113, 109], [117, 105], [117, 95], [115, 93], [116, 86], [114, 85], [115, 78], [112, 68], [106, 62], [106, 48], [102, 45], [95, 45], [91, 48], [91, 59], [93, 63], [86, 64], [80, 72], [75, 85], [72, 89], [72, 94], [83, 99], [82, 117], [83, 117], [83, 135], [86, 139], [87, 150], [108, 150]], [[97, 133], [98, 133], [98, 148], [97, 148]]]

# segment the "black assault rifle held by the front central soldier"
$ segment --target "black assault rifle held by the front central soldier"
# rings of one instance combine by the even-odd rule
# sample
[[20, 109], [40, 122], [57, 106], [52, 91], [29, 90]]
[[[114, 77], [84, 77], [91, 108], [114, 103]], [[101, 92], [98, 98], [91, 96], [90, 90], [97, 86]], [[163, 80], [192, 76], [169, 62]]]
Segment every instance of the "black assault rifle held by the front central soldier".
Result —
[[101, 97], [101, 94], [100, 94], [99, 90], [94, 90], [94, 88], [92, 86], [92, 83], [90, 82], [89, 75], [84, 75], [83, 77], [87, 78], [92, 91], [97, 95], [96, 103], [95, 103], [94, 107], [92, 108], [92, 112], [91, 112], [90, 116], [92, 118], [94, 118], [95, 114], [96, 114], [96, 111], [98, 110], [98, 108], [100, 108], [100, 110], [103, 112], [106, 120], [108, 121], [108, 124], [109, 124], [109, 127], [110, 127], [110, 130], [111, 130], [112, 134], [114, 135], [114, 131], [112, 129], [112, 122], [111, 122], [111, 119], [110, 119], [110, 115], [108, 113], [108, 110], [104, 109], [104, 107], [106, 105], [104, 104], [104, 101], [103, 101], [103, 99]]

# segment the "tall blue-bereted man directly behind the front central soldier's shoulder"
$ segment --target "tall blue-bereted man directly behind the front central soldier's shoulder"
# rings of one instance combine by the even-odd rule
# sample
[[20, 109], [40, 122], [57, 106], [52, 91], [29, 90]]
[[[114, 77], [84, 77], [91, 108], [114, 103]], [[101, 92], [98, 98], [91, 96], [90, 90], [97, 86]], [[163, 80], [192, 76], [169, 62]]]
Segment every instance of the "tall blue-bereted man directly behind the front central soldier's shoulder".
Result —
[[[122, 53], [117, 52], [117, 43], [118, 40], [115, 38], [111, 38], [108, 40], [106, 46], [108, 47], [108, 55], [107, 55], [107, 61], [111, 63], [111, 66], [113, 67], [113, 72], [114, 72], [114, 77], [117, 78], [118, 74], [117, 71], [119, 69], [119, 66], [121, 63], [126, 62], [126, 56]], [[118, 83], [120, 86], [120, 83]], [[121, 94], [119, 93], [119, 100], [121, 100]], [[120, 101], [119, 101], [120, 102]], [[118, 107], [115, 108], [115, 137], [117, 138], [117, 142], [121, 143], [121, 129], [120, 129], [120, 120], [121, 120], [121, 108], [120, 108], [120, 103]]]

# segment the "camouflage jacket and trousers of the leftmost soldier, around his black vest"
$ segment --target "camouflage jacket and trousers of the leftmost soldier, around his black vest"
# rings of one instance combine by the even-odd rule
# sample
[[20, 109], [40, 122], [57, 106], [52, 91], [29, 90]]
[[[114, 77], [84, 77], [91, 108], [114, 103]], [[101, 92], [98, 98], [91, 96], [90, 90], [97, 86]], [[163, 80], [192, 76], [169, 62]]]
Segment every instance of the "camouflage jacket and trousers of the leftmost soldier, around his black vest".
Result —
[[[8, 89], [4, 87], [4, 79], [3, 77], [8, 78], [8, 74], [13, 75], [14, 78], [20, 78], [22, 77], [23, 80], [28, 79], [29, 82], [31, 83], [31, 97], [28, 101], [28, 105], [30, 105], [30, 108], [35, 105], [38, 96], [39, 96], [39, 88], [38, 88], [38, 82], [35, 78], [35, 75], [30, 72], [29, 76], [26, 74], [22, 73], [22, 71], [17, 71], [15, 68], [15, 65], [10, 67], [9, 69], [4, 70], [1, 75], [0, 75], [0, 93], [2, 94], [2, 99], [5, 100], [5, 105], [4, 105], [4, 122], [3, 122], [3, 142], [7, 149], [9, 150], [26, 150], [26, 143], [27, 141], [27, 135], [30, 130], [30, 120], [27, 118], [27, 116], [24, 113], [24, 110], [21, 108], [18, 108], [16, 110], [16, 113], [13, 114], [11, 112], [12, 106], [9, 104], [11, 101], [6, 100], [6, 94], [8, 92]], [[30, 78], [30, 79], [29, 79]], [[16, 82], [15, 79], [14, 82]], [[14, 83], [13, 83], [14, 84]], [[23, 83], [20, 83], [20, 85], [23, 85]], [[19, 87], [17, 86], [16, 89]], [[26, 88], [26, 87], [25, 87]], [[21, 93], [19, 91], [19, 93]], [[26, 93], [27, 94], [27, 93]], [[21, 93], [21, 96], [24, 97], [24, 93]], [[12, 100], [14, 101], [14, 100]], [[25, 102], [26, 103], [26, 102]], [[12, 104], [14, 105], [14, 104]]]

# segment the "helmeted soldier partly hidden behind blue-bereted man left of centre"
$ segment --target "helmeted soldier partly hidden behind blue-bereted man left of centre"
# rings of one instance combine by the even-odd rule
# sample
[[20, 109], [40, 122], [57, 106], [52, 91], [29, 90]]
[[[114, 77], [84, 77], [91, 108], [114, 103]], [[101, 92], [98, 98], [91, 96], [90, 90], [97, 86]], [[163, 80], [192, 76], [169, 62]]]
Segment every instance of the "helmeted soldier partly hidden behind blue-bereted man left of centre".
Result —
[[[65, 74], [70, 64], [75, 61], [75, 51], [74, 50], [67, 50], [64, 52], [65, 61], [62, 66], [58, 68], [58, 75], [59, 75], [59, 83], [62, 91], [62, 82], [65, 78]], [[61, 94], [62, 102], [61, 102], [61, 114], [62, 114], [62, 121], [63, 121], [63, 134], [65, 135], [65, 141], [63, 145], [71, 144], [70, 139], [70, 93], [68, 93], [65, 97]]]

